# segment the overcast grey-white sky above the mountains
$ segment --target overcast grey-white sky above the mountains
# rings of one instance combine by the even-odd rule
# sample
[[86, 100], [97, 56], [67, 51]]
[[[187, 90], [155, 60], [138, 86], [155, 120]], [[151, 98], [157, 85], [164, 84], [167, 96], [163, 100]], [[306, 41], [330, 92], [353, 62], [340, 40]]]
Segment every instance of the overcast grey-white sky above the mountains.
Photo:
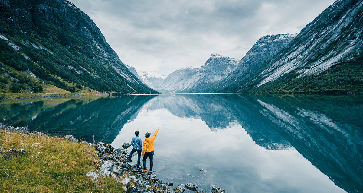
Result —
[[299, 33], [335, 0], [70, 0], [123, 63], [168, 75], [213, 53], [241, 59], [268, 34]]

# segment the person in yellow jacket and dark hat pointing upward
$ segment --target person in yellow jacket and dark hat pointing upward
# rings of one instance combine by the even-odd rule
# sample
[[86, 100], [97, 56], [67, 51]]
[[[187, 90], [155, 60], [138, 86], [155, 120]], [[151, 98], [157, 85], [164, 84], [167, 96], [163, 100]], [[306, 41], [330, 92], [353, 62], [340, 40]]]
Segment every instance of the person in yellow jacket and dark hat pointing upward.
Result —
[[142, 146], [142, 164], [144, 168], [142, 172], [146, 172], [146, 159], [150, 157], [150, 173], [152, 173], [152, 158], [154, 157], [154, 139], [156, 138], [156, 134], [158, 134], [159, 127], [156, 129], [154, 135], [150, 137], [150, 133], [145, 134], [145, 140]]

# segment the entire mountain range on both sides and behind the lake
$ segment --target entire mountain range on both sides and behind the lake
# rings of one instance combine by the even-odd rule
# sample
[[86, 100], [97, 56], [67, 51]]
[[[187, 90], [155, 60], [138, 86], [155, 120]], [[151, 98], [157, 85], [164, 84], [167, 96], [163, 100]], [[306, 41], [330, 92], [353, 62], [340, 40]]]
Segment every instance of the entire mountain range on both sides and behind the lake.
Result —
[[[51, 84], [121, 94], [363, 92], [363, 1], [337, 0], [299, 34], [266, 35], [241, 59], [213, 53], [168, 76], [119, 59], [67, 0], [0, 0], [0, 87]], [[29, 69], [28, 78], [26, 70]], [[77, 86], [77, 89], [75, 88]]]

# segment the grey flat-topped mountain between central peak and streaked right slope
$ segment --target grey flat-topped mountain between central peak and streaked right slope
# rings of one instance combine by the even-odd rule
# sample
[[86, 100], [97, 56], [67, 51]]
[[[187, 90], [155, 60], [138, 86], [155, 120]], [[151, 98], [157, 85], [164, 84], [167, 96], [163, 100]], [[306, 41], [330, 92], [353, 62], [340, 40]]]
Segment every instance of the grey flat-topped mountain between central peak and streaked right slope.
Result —
[[298, 34], [277, 34], [266, 35], [260, 38], [254, 43], [252, 48], [246, 53], [231, 73], [219, 84], [208, 90], [215, 91], [236, 83], [241, 77], [245, 77], [254, 70], [260, 68], [264, 62], [276, 55], [297, 35]]

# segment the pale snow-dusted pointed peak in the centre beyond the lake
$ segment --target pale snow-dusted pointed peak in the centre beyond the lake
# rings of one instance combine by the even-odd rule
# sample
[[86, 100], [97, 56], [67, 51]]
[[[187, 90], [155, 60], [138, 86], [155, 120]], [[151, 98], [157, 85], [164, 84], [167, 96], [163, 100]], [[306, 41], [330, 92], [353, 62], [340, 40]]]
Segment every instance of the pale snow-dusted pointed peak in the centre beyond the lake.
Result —
[[179, 69], [166, 78], [157, 91], [162, 93], [200, 93], [223, 80], [240, 62], [216, 53], [200, 68]]

